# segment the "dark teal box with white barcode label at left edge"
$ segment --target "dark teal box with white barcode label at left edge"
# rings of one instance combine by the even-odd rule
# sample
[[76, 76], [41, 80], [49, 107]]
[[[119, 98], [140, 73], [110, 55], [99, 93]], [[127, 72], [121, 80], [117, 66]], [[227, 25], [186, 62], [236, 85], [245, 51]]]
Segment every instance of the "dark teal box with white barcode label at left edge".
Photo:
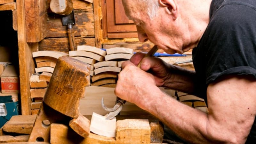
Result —
[[0, 127], [11, 119], [12, 116], [19, 115], [19, 103], [12, 101], [12, 96], [0, 97]]

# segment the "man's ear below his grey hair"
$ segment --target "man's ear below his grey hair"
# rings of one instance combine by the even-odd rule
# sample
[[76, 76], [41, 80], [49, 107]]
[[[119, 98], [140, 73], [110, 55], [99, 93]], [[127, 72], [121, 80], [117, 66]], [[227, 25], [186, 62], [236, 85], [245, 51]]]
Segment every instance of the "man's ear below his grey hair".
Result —
[[176, 0], [158, 0], [160, 7], [164, 7], [165, 11], [172, 15], [173, 20], [177, 18], [177, 3]]

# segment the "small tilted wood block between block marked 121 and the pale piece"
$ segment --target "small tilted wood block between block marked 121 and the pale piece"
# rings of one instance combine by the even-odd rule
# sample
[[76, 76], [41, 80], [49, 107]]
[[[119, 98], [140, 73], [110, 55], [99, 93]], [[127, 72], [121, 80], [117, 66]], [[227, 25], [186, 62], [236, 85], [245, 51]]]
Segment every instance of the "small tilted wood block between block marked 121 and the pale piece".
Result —
[[79, 114], [78, 118], [70, 120], [69, 126], [84, 138], [87, 138], [90, 134], [90, 120], [82, 114]]

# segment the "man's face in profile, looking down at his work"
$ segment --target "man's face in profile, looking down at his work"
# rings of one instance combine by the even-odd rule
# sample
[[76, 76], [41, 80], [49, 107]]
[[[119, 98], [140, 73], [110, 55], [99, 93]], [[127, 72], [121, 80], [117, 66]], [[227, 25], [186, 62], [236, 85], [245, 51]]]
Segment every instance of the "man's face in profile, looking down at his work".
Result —
[[145, 11], [139, 8], [132, 0], [124, 2], [126, 15], [134, 21], [138, 37], [141, 42], [150, 40], [168, 54], [184, 53], [189, 46], [188, 28], [182, 24], [181, 19], [175, 21], [168, 15], [163, 7], [159, 7], [156, 17], [150, 19]]

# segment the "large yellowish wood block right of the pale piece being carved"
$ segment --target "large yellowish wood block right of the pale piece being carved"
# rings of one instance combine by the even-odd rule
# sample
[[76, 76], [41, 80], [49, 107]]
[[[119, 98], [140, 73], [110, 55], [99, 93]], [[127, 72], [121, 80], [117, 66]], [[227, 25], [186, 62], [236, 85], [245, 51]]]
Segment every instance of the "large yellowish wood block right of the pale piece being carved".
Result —
[[124, 119], [116, 121], [116, 144], [150, 143], [148, 119]]

